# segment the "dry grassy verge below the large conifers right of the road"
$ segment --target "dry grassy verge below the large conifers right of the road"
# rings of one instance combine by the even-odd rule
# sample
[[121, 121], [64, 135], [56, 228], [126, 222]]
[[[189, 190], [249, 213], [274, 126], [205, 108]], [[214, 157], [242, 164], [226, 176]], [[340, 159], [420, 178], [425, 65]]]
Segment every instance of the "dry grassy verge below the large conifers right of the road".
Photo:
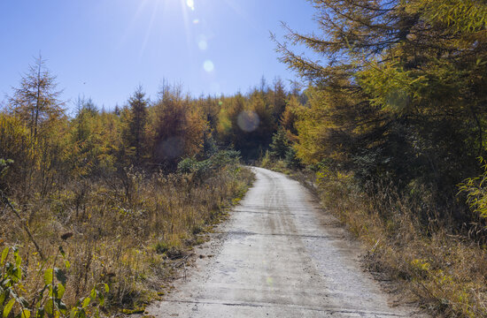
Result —
[[393, 189], [369, 196], [359, 192], [350, 175], [297, 172], [283, 163], [267, 163], [267, 168], [312, 187], [323, 208], [367, 247], [367, 269], [393, 282], [408, 301], [434, 316], [487, 316], [485, 246], [453, 234], [446, 223], [435, 219], [425, 228], [415, 213], [421, 207], [400, 199]]

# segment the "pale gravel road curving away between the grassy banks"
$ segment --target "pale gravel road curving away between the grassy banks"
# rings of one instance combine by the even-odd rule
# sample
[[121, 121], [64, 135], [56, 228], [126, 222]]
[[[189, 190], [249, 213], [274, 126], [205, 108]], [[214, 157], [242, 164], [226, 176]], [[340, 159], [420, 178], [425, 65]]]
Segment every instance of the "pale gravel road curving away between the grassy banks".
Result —
[[358, 244], [305, 187], [281, 173], [251, 169], [256, 181], [218, 228], [220, 243], [201, 249], [213, 251], [214, 257], [198, 259], [188, 279], [149, 307], [149, 314], [422, 316], [408, 307], [390, 306], [379, 285], [360, 269]]

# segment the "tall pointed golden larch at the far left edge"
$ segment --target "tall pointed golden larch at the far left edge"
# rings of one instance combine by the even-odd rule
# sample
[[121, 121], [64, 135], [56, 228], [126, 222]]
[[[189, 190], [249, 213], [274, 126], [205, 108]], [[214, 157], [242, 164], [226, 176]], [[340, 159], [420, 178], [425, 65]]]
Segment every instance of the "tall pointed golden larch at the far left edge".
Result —
[[[18, 137], [19, 143], [3, 145], [2, 152], [6, 159], [14, 161], [12, 170], [17, 171], [18, 179], [11, 180], [12, 184], [17, 184], [19, 191], [26, 196], [46, 195], [56, 183], [56, 170], [64, 169], [59, 151], [64, 142], [66, 117], [64, 102], [58, 99], [60, 93], [56, 77], [50, 74], [43, 58], [38, 57], [8, 98], [10, 114], [3, 114], [1, 125], [4, 125], [3, 130], [12, 134], [5, 131], [10, 136], [4, 140]], [[24, 149], [23, 154], [15, 155], [19, 152], [15, 148], [19, 147]]]

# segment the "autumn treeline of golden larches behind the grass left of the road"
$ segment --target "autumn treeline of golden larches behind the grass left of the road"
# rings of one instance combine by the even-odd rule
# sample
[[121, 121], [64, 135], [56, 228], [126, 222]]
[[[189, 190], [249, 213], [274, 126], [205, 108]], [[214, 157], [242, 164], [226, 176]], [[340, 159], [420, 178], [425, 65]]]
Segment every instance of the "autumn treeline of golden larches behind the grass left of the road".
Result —
[[298, 95], [281, 79], [270, 87], [262, 79], [247, 95], [201, 98], [164, 84], [154, 101], [137, 87], [126, 105], [113, 110], [80, 97], [70, 117], [55, 76], [39, 58], [0, 112], [0, 158], [13, 161], [0, 182], [27, 200], [66, 180], [123, 175], [129, 166], [172, 172], [183, 158], [205, 160], [219, 149], [256, 160]]

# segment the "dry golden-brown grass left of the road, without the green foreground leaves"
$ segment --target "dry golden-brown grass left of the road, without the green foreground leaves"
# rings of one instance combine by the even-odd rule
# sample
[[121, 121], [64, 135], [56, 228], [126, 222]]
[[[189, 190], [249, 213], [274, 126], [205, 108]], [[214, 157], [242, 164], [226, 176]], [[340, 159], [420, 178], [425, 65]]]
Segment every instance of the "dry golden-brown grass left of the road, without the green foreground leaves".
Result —
[[157, 298], [165, 278], [174, 274], [170, 259], [199, 243], [197, 233], [216, 222], [253, 178], [238, 166], [204, 179], [134, 170], [126, 177], [70, 184], [49, 199], [17, 206], [43, 254], [50, 255], [45, 261], [15, 216], [0, 209], [0, 250], [20, 247], [27, 295], [43, 284], [40, 268], [60, 266], [55, 255], [63, 246], [71, 262], [64, 297], [68, 307], [98, 282], [110, 285], [107, 307], [139, 307]]

